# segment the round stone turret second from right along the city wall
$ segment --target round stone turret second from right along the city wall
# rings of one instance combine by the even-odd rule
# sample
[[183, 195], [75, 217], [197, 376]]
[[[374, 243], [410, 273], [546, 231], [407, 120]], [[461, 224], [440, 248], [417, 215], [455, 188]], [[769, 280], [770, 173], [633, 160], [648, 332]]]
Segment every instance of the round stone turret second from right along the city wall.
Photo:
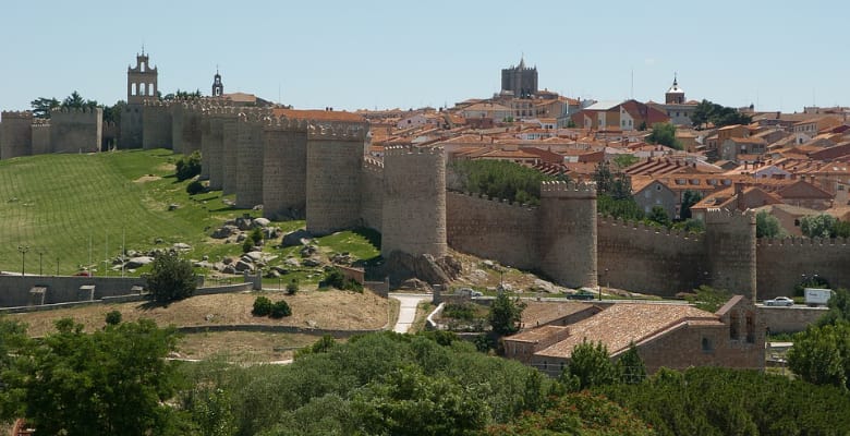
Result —
[[596, 287], [596, 186], [544, 182], [537, 222], [538, 264], [555, 281]]

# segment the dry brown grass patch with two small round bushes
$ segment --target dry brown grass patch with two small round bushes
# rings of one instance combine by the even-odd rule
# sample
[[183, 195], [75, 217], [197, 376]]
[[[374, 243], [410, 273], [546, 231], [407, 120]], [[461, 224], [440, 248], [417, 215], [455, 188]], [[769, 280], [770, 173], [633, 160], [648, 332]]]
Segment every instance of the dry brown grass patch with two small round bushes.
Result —
[[[272, 302], [286, 300], [292, 307], [292, 316], [281, 319], [253, 316], [251, 310], [254, 300], [260, 294]], [[104, 327], [106, 314], [111, 311], [121, 312], [125, 322], [148, 318], [159, 326], [281, 325], [354, 330], [385, 327], [394, 316], [392, 307], [387, 299], [368, 291], [309, 291], [295, 295], [284, 295], [282, 292], [250, 292], [193, 296], [168, 306], [141, 302], [97, 304], [11, 316], [28, 324], [28, 332], [32, 336], [44, 336], [53, 331], [53, 323], [65, 317], [74, 318], [83, 324], [87, 331], [92, 331]]]

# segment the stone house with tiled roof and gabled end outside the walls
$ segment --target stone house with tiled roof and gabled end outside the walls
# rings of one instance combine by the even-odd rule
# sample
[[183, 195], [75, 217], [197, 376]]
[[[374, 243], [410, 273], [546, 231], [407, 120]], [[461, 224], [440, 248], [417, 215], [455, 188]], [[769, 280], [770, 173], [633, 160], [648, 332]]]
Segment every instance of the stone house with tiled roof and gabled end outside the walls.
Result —
[[558, 376], [585, 340], [602, 342], [611, 359], [634, 343], [649, 373], [660, 367], [764, 368], [764, 323], [741, 295], [715, 313], [685, 304], [616, 303], [578, 323], [544, 326], [503, 341], [508, 358]]

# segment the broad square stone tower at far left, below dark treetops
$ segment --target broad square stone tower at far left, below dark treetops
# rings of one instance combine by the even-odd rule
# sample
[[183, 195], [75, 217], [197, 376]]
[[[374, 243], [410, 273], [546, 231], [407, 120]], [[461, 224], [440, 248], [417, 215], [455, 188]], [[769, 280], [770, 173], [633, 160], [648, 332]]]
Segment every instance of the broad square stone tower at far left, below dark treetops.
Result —
[[102, 142], [104, 109], [64, 108], [50, 111], [52, 153], [95, 153]]

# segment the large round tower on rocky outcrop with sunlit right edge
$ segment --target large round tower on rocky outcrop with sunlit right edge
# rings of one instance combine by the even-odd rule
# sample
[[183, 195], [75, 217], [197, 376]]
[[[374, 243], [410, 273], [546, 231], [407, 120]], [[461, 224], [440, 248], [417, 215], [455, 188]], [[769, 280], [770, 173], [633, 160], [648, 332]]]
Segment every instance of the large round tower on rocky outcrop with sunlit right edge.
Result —
[[380, 252], [444, 257], [446, 155], [442, 148], [387, 147]]

